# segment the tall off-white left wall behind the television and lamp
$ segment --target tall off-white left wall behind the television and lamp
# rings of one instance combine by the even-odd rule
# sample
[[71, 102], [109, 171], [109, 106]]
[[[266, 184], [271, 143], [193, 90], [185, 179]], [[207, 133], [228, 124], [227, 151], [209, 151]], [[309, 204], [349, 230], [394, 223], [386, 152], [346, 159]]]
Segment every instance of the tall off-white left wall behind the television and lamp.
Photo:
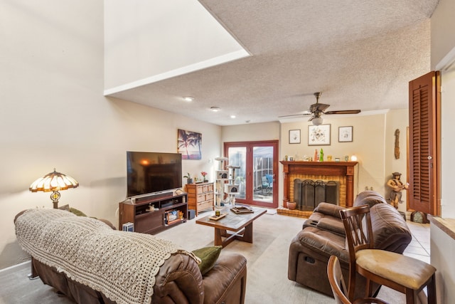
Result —
[[54, 167], [80, 183], [60, 205], [115, 225], [127, 150], [176, 152], [178, 128], [200, 132], [203, 159], [184, 160], [183, 172], [210, 172], [220, 127], [103, 97], [102, 2], [3, 1], [0, 20], [0, 268], [28, 259], [13, 219], [52, 207], [48, 192], [28, 187]]

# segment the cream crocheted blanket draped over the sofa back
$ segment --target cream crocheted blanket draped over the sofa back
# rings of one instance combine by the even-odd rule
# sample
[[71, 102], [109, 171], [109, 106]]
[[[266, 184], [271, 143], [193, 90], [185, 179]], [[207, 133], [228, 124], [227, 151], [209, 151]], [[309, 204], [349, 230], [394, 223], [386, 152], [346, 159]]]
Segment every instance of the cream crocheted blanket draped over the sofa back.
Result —
[[59, 209], [29, 209], [16, 220], [19, 244], [36, 260], [121, 303], [151, 303], [156, 273], [173, 253], [170, 241], [112, 230], [102, 221]]

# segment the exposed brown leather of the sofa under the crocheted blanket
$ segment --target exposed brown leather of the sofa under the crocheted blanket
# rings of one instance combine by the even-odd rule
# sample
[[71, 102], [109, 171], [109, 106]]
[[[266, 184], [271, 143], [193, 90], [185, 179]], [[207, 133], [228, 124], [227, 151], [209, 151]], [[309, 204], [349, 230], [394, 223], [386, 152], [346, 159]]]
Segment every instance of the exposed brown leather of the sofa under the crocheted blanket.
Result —
[[[23, 212], [14, 219], [15, 224], [21, 214]], [[58, 293], [63, 293], [76, 303], [116, 303], [99, 290], [76, 282], [65, 272], [58, 271], [33, 256], [32, 263], [33, 272], [43, 283], [53, 286]], [[151, 303], [244, 303], [246, 278], [247, 261], [240, 254], [222, 252], [213, 268], [203, 275], [198, 263], [190, 255], [173, 253], [156, 273]]]

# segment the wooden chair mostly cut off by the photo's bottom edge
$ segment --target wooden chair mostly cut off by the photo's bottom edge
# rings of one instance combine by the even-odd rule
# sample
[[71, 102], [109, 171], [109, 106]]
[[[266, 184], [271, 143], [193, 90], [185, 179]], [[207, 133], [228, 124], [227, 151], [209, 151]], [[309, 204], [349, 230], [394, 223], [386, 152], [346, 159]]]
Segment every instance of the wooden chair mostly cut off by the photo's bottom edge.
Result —
[[346, 297], [345, 292], [346, 284], [343, 279], [343, 273], [341, 272], [340, 261], [336, 256], [331, 256], [328, 259], [327, 264], [327, 276], [328, 282], [330, 283], [330, 287], [332, 288], [333, 298], [335, 298], [336, 304], [360, 304], [360, 303], [378, 303], [378, 304], [387, 304], [387, 302], [380, 300], [378, 298], [359, 298], [354, 300], [354, 302], [350, 302], [350, 300]]

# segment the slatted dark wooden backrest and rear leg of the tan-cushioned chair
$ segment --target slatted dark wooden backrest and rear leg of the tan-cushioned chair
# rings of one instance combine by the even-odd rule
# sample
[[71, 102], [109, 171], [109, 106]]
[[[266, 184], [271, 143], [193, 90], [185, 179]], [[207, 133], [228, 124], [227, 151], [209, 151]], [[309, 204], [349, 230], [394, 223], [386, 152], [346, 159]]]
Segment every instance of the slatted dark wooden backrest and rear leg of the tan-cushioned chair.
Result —
[[370, 207], [356, 206], [340, 210], [346, 232], [349, 251], [348, 298], [353, 300], [355, 289], [355, 253], [362, 249], [374, 248], [373, 229], [371, 227]]

